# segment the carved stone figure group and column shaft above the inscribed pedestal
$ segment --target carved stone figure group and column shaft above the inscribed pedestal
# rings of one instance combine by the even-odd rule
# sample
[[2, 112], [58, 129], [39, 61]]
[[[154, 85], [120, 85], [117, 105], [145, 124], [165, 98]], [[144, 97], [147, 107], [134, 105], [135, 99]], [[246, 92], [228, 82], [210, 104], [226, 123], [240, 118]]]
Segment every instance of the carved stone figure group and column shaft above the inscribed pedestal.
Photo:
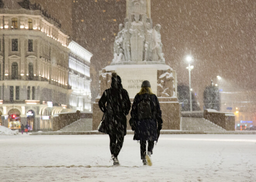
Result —
[[[147, 61], [163, 64], [164, 54], [161, 42], [161, 25], [152, 29], [150, 0], [126, 0], [125, 24], [119, 24], [119, 32], [114, 41], [112, 64], [133, 62], [148, 64]], [[142, 62], [143, 61], [143, 62]], [[128, 63], [131, 64], [131, 63]]]

